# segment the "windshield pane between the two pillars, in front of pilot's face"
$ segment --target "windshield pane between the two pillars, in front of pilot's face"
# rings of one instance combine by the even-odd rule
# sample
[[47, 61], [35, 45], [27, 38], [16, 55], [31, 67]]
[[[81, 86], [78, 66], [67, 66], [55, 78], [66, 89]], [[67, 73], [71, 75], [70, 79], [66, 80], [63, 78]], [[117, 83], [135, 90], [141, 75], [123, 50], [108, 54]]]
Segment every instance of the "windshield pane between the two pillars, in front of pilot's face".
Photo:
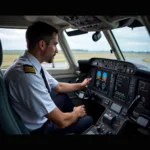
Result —
[[[71, 30], [67, 29], [67, 31]], [[68, 36], [64, 31], [64, 36], [75, 60], [90, 59], [92, 57], [116, 59], [114, 53], [111, 53], [111, 47], [104, 34], [101, 33], [101, 39], [95, 42], [92, 40], [94, 33], [88, 32], [86, 34]]]

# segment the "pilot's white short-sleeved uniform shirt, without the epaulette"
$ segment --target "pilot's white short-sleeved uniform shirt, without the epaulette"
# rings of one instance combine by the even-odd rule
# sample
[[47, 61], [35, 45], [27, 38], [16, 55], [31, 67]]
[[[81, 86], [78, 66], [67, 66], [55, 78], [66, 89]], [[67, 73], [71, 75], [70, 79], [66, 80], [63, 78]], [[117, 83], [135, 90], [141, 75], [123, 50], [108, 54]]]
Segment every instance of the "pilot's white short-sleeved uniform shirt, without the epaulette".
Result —
[[[25, 73], [25, 64], [33, 66], [35, 73]], [[40, 71], [40, 62], [25, 51], [4, 74], [12, 106], [30, 131], [40, 128], [47, 121], [44, 115], [56, 107]], [[57, 86], [58, 81], [46, 70], [44, 72], [51, 91]]]

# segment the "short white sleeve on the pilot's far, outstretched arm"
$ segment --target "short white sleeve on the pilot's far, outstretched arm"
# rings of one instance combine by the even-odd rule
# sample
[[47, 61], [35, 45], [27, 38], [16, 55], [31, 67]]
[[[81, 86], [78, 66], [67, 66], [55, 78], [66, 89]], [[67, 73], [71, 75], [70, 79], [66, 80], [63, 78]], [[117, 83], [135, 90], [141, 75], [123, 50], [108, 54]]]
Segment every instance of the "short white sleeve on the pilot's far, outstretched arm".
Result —
[[50, 88], [55, 88], [58, 84], [58, 81], [54, 79], [46, 70], [44, 71]]

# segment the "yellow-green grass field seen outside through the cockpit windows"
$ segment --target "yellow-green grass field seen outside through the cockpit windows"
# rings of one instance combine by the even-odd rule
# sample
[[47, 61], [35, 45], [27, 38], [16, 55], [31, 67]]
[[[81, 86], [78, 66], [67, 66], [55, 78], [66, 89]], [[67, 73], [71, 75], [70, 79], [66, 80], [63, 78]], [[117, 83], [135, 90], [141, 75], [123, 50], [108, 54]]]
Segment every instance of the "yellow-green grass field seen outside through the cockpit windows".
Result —
[[[22, 52], [5, 52], [3, 53], [3, 64], [2, 68], [7, 68], [11, 63], [17, 59]], [[90, 59], [91, 57], [101, 57], [101, 58], [113, 58], [115, 59], [114, 54], [110, 52], [73, 52], [73, 55], [76, 60], [79, 59]], [[143, 59], [144, 62], [150, 63], [150, 53], [124, 53], [125, 57], [146, 57]], [[55, 56], [55, 62], [66, 62], [66, 58], [62, 52], [59, 52]]]

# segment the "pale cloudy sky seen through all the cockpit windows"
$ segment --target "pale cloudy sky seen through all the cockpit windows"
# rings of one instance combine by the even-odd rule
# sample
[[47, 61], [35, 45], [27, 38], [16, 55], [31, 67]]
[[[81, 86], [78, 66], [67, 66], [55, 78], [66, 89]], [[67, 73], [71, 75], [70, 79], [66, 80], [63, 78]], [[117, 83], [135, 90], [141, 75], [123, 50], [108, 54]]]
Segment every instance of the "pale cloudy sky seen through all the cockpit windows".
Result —
[[[4, 50], [25, 50], [25, 29], [3, 29], [0, 28], [0, 39]], [[92, 35], [94, 32], [88, 34], [65, 37], [69, 42], [71, 49], [95, 50], [95, 51], [110, 51], [110, 46], [102, 33], [99, 41], [94, 42]], [[150, 36], [145, 27], [134, 28], [119, 28], [114, 29], [113, 33], [118, 41], [120, 48], [123, 51], [145, 51], [150, 52]], [[58, 45], [60, 50], [60, 46]]]

